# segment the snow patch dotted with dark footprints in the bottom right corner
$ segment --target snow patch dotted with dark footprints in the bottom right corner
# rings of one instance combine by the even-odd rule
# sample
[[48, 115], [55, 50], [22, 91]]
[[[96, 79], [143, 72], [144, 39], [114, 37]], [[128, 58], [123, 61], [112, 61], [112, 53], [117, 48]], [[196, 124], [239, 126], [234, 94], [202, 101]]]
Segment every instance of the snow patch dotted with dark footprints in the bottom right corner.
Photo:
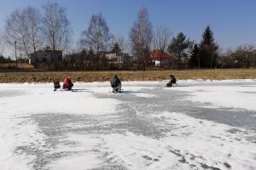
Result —
[[182, 113], [163, 112], [151, 116], [167, 122], [167, 128], [170, 128], [170, 132], [160, 139], [160, 143], [192, 167], [256, 167], [256, 145], [247, 140], [254, 135], [253, 132]]

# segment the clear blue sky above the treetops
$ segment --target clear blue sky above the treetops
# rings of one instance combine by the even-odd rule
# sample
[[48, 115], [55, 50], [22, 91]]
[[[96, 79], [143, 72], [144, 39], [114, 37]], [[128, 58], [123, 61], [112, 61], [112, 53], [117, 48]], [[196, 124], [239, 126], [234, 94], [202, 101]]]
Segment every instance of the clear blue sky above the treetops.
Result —
[[172, 37], [183, 33], [195, 42], [207, 25], [211, 26], [221, 50], [240, 45], [256, 45], [255, 0], [0, 0], [0, 31], [4, 31], [6, 17], [15, 8], [32, 6], [42, 10], [47, 2], [57, 2], [67, 10], [73, 27], [73, 47], [89, 25], [92, 14], [102, 13], [111, 33], [124, 36], [129, 32], [141, 8], [148, 9], [154, 30], [166, 26]]

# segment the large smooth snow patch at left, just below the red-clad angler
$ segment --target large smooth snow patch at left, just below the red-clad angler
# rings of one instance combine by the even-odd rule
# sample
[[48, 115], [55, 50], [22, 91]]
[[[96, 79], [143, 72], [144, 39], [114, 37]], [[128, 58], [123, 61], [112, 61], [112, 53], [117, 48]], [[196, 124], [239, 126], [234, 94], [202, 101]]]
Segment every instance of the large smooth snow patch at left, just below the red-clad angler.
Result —
[[[10, 86], [7, 84], [6, 91], [11, 90], [13, 86], [13, 84]], [[76, 88], [74, 92], [54, 92], [49, 84], [19, 84], [15, 89], [26, 90], [26, 94], [12, 98], [2, 97], [0, 113], [4, 112], [8, 115], [38, 113], [104, 115], [115, 112], [115, 105], [120, 103], [117, 99], [96, 98], [87, 88]]]

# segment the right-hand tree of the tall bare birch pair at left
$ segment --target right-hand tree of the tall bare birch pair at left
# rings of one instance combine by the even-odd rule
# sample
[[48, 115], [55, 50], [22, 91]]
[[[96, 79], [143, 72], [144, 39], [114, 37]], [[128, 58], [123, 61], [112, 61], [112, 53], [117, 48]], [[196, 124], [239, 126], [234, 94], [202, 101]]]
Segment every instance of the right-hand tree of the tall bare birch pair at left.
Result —
[[56, 69], [56, 50], [67, 48], [72, 31], [65, 8], [60, 7], [58, 3], [47, 3], [44, 6], [42, 31], [46, 45], [52, 49]]

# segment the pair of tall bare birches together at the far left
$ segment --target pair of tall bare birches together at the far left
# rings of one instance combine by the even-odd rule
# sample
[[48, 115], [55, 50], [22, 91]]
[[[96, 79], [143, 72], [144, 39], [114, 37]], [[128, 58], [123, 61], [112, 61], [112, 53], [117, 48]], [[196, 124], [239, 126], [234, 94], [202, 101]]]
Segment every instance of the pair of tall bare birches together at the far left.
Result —
[[[37, 60], [37, 51], [48, 46], [52, 49], [52, 59], [57, 66], [56, 50], [64, 50], [70, 42], [72, 28], [67, 20], [66, 9], [58, 3], [47, 3], [43, 6], [44, 14], [37, 8], [15, 9], [6, 20], [5, 41], [16, 48], [27, 58]], [[37, 62], [34, 63], [37, 68]]]

